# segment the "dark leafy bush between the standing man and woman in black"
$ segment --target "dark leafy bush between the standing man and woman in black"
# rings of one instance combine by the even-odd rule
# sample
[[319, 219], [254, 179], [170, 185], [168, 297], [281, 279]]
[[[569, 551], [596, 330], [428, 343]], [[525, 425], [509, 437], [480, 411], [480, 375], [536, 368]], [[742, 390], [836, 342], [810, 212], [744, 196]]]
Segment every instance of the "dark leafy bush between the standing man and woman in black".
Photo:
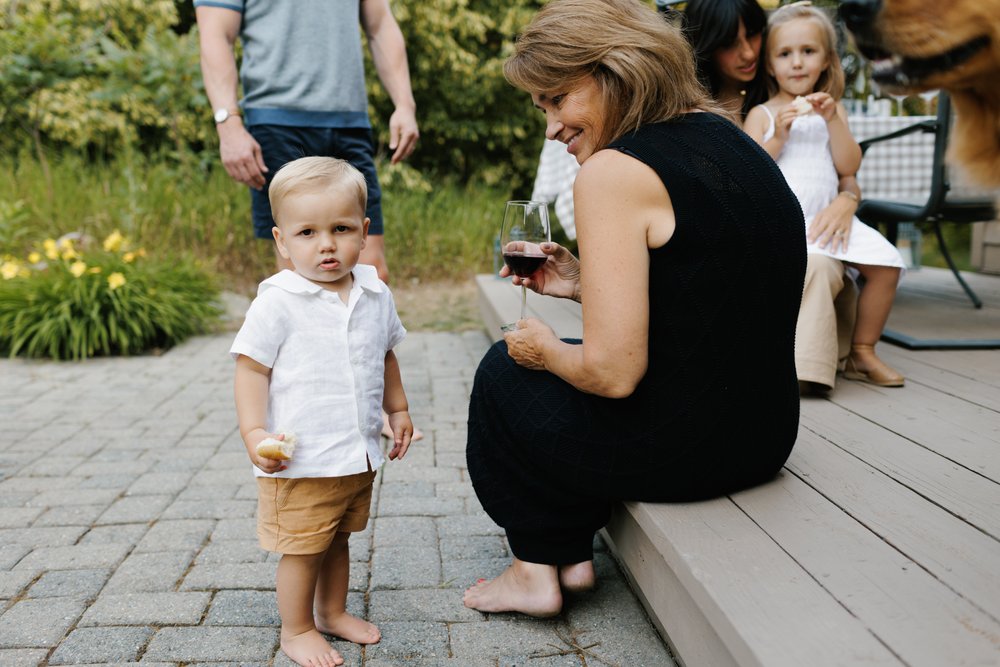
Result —
[[[406, 38], [420, 143], [419, 169], [464, 182], [528, 188], [542, 147], [542, 116], [503, 77], [514, 37], [540, 0], [396, 0]], [[367, 54], [367, 52], [366, 52]], [[371, 120], [388, 143], [392, 101], [368, 62]]]

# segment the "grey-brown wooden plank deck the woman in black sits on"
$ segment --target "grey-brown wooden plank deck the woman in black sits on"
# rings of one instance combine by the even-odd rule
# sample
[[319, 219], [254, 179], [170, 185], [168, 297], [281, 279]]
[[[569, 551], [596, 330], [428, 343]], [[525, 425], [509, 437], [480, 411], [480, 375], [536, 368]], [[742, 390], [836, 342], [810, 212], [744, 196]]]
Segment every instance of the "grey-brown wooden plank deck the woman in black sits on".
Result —
[[[1000, 277], [911, 272], [889, 326], [1000, 338]], [[518, 290], [478, 278], [487, 329]], [[535, 297], [535, 298], [531, 298]], [[529, 295], [579, 336], [576, 304]], [[704, 503], [625, 503], [606, 537], [687, 667], [1000, 665], [1000, 351], [880, 355], [902, 389], [839, 379], [802, 401], [772, 483]]]

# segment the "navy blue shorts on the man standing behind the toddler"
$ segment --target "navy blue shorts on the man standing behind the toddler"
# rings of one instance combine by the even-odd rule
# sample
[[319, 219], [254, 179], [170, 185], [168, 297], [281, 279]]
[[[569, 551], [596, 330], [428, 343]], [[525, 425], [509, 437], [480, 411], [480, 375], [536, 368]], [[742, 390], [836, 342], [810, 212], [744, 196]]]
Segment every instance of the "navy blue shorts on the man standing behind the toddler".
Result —
[[324, 155], [347, 160], [365, 175], [368, 182], [368, 208], [371, 218], [369, 234], [382, 233], [382, 190], [375, 173], [375, 146], [371, 130], [365, 127], [289, 127], [285, 125], [254, 125], [247, 130], [260, 144], [267, 165], [267, 184], [263, 190], [250, 188], [253, 208], [253, 231], [259, 239], [271, 239], [274, 218], [267, 188], [271, 179], [285, 163], [300, 157]]

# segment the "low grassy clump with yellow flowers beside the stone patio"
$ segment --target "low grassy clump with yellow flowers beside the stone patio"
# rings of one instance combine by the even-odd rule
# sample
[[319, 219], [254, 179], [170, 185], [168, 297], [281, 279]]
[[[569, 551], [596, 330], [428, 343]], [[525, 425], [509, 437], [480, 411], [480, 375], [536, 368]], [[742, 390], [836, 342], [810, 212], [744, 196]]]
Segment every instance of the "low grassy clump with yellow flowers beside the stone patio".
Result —
[[219, 315], [211, 277], [183, 257], [148, 257], [118, 232], [97, 245], [46, 239], [0, 264], [0, 351], [84, 359], [170, 347]]

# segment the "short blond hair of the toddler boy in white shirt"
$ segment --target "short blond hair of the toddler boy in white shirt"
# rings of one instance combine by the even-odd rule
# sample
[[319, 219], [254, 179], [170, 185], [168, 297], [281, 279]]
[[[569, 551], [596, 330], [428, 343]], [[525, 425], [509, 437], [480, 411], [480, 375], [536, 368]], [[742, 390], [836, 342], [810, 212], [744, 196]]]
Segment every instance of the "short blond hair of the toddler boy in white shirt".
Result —
[[324, 190], [353, 193], [364, 215], [368, 206], [368, 184], [364, 175], [346, 160], [321, 156], [292, 160], [278, 170], [267, 189], [271, 215], [278, 222], [278, 211], [286, 197]]

